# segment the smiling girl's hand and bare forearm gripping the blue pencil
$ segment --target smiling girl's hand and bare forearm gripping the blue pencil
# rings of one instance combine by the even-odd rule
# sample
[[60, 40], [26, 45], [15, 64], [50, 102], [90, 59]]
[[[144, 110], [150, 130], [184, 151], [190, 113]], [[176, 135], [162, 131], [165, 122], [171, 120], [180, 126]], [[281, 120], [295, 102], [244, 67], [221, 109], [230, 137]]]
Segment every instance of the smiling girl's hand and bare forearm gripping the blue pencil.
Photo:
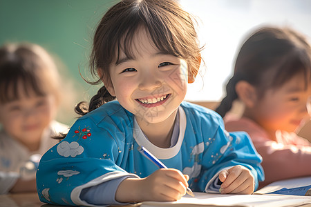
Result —
[[129, 178], [121, 182], [115, 199], [120, 202], [176, 201], [186, 194], [188, 175], [180, 170], [159, 169], [143, 179]]

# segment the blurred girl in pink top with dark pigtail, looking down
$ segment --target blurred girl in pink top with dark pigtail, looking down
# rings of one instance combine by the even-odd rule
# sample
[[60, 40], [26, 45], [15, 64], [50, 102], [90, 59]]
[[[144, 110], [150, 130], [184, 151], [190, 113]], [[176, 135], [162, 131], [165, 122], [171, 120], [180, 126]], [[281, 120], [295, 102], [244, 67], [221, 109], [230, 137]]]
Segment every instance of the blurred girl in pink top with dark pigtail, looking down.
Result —
[[311, 48], [290, 28], [264, 27], [243, 43], [227, 96], [216, 109], [222, 117], [239, 100], [241, 118], [225, 117], [229, 131], [249, 134], [263, 157], [265, 181], [311, 175], [311, 144], [296, 130], [310, 119]]

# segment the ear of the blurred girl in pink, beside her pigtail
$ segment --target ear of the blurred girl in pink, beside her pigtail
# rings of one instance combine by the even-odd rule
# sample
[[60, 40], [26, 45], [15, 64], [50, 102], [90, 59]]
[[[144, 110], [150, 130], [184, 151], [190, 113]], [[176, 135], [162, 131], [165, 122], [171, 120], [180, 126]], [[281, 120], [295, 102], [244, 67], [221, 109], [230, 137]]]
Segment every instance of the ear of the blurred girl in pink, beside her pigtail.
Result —
[[256, 88], [252, 86], [252, 84], [247, 81], [238, 81], [236, 83], [236, 94], [247, 108], [255, 106], [257, 101], [257, 93]]

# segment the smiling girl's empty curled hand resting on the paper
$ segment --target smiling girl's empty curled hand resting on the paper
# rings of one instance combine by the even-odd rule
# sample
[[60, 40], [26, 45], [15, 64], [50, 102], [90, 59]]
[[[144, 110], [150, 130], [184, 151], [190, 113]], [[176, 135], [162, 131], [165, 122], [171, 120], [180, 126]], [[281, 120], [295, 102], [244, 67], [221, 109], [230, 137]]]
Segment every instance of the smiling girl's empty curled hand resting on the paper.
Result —
[[223, 182], [220, 193], [252, 194], [255, 189], [254, 176], [244, 166], [234, 166], [219, 173]]

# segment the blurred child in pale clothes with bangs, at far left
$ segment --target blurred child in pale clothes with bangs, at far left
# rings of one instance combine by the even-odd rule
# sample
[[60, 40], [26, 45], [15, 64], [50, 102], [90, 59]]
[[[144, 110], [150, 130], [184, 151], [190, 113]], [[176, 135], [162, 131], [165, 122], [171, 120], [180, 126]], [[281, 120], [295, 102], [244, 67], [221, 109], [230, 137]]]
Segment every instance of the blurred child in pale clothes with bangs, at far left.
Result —
[[36, 190], [41, 155], [68, 126], [54, 121], [59, 76], [48, 52], [30, 43], [0, 48], [0, 194]]

